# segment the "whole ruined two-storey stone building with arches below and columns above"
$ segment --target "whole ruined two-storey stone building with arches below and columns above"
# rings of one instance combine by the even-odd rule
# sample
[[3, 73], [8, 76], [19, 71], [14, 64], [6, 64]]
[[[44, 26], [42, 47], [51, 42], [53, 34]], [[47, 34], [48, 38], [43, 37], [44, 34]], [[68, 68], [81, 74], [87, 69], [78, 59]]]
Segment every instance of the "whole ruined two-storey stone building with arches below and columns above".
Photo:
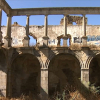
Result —
[[[87, 25], [85, 17], [100, 14], [100, 7], [12, 9], [0, 0], [0, 8], [1, 96], [31, 93], [47, 100], [56, 90], [62, 92], [66, 84], [100, 85], [100, 26]], [[7, 13], [7, 26], [1, 26], [2, 10]], [[48, 15], [54, 14], [64, 15], [60, 25], [48, 25]], [[17, 22], [11, 25], [12, 16], [20, 15], [27, 16], [26, 27]], [[44, 26], [29, 26], [30, 15], [44, 15]], [[36, 39], [36, 45], [29, 46], [29, 35]]]

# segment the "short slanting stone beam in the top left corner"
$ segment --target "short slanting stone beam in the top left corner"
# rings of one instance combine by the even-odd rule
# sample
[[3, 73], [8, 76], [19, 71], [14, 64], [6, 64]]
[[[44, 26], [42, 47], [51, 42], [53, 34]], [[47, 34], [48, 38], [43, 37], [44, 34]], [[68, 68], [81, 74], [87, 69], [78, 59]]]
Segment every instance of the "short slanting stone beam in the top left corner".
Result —
[[0, 8], [4, 10], [7, 15], [11, 13], [11, 7], [5, 0], [0, 0]]

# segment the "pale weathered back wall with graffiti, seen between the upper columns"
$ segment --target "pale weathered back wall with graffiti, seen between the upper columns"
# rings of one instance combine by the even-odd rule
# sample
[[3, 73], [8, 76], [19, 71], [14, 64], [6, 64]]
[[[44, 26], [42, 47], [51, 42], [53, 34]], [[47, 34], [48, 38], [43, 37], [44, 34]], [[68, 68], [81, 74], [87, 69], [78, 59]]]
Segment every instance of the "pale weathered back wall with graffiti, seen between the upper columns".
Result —
[[[6, 26], [2, 26], [1, 30], [3, 32], [3, 38], [6, 35]], [[26, 30], [24, 26], [12, 26], [11, 29], [11, 37], [12, 37], [12, 46], [23, 46], [22, 40], [26, 34]], [[44, 26], [30, 26], [29, 32], [37, 38], [37, 42], [42, 45], [44, 36]], [[67, 33], [71, 35], [71, 42], [75, 42], [75, 38], [81, 38], [83, 36], [82, 25], [68, 25]], [[100, 33], [99, 25], [87, 25], [86, 26], [86, 34], [91, 36], [98, 36]], [[48, 37], [49, 37], [49, 45], [57, 45], [57, 37], [64, 35], [64, 27], [63, 25], [49, 25], [48, 26]], [[97, 41], [97, 40], [96, 40]], [[77, 42], [77, 41], [76, 41]], [[94, 42], [94, 41], [92, 41]], [[92, 43], [91, 42], [91, 43]], [[90, 42], [89, 42], [90, 43]]]

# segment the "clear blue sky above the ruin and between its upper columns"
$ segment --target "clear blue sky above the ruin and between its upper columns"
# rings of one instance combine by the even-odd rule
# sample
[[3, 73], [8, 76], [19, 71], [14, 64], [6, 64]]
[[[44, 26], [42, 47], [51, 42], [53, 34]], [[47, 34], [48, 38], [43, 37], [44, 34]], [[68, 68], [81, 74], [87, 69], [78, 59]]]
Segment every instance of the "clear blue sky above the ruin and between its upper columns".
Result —
[[[11, 8], [41, 8], [41, 7], [100, 7], [100, 0], [6, 0]], [[82, 16], [82, 15], [78, 15]], [[100, 15], [86, 15], [88, 25], [100, 25]], [[59, 25], [63, 15], [48, 15], [48, 25]], [[26, 16], [13, 16], [12, 24], [26, 26]], [[7, 16], [2, 15], [2, 25], [6, 26]], [[31, 15], [30, 25], [44, 25], [44, 15]], [[30, 43], [32, 43], [30, 37]], [[35, 44], [35, 42], [34, 42]]]

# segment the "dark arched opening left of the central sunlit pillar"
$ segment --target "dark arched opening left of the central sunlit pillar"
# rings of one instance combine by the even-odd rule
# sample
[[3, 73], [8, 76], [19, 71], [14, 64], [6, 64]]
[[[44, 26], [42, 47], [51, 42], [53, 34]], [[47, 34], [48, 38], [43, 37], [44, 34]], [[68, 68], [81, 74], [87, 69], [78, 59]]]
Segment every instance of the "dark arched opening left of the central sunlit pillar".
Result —
[[19, 55], [12, 63], [12, 97], [40, 93], [40, 64], [32, 54]]

